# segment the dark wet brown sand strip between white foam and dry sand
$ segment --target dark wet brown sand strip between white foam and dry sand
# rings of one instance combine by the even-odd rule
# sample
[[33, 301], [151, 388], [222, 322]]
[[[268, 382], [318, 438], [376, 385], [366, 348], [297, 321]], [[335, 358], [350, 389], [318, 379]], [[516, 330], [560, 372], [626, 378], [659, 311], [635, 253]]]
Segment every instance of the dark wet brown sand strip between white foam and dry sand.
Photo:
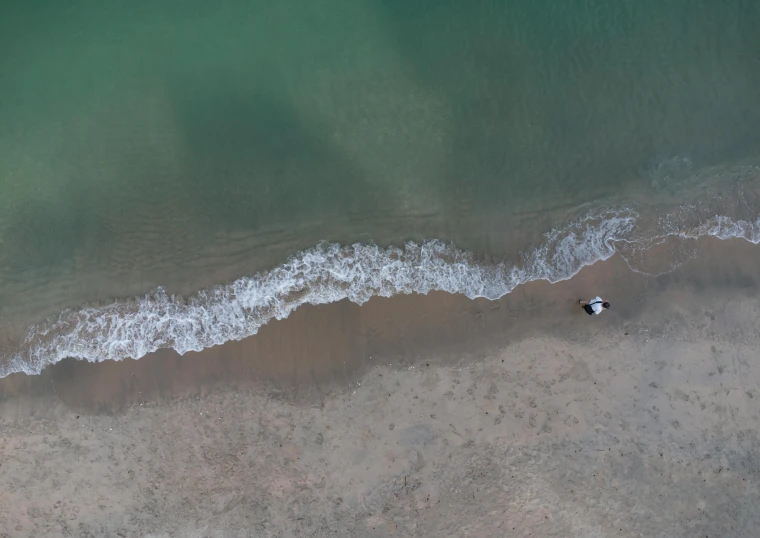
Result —
[[[620, 331], [656, 296], [653, 288], [676, 293], [679, 287], [684, 298], [710, 287], [754, 288], [758, 282], [760, 249], [739, 239], [709, 238], [696, 260], [659, 277], [636, 273], [615, 255], [571, 279], [529, 282], [495, 301], [438, 291], [373, 297], [363, 305], [342, 300], [302, 306], [256, 335], [201, 352], [162, 349], [138, 360], [96, 363], [65, 359], [40, 375], [0, 379], [0, 402], [45, 395], [52, 385], [63, 402], [91, 412], [228, 386], [264, 387], [308, 401], [345, 389], [377, 364], [466, 362], [529, 336], [577, 341], [600, 330]], [[613, 308], [591, 320], [578, 315], [577, 299], [586, 299], [584, 293], [601, 294]]]

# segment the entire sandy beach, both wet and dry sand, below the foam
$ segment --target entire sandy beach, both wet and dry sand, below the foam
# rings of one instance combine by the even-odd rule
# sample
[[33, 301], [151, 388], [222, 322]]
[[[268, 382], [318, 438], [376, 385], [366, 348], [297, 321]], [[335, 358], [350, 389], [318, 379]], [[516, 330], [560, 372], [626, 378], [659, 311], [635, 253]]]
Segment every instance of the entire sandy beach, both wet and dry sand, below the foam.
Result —
[[[760, 536], [760, 248], [0, 380], [0, 536]], [[580, 297], [613, 309], [590, 318]]]

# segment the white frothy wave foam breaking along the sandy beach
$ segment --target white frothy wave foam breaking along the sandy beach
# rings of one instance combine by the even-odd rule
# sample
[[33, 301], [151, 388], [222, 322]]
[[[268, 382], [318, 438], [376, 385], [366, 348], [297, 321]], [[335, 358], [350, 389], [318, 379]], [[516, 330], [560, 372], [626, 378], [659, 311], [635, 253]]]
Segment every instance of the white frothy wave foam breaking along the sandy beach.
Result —
[[[526, 282], [569, 279], [583, 267], [610, 258], [616, 245], [641, 247], [637, 219], [631, 210], [587, 215], [547, 233], [516, 265], [479, 263], [471, 253], [437, 240], [409, 242], [404, 248], [321, 244], [270, 271], [188, 298], [159, 288], [105, 306], [66, 310], [27, 331], [18, 351], [2, 360], [0, 377], [39, 374], [68, 357], [97, 362], [139, 359], [162, 348], [180, 354], [200, 351], [256, 334], [304, 304], [342, 299], [363, 304], [373, 296], [430, 291], [495, 300]], [[760, 219], [752, 223], [716, 217], [690, 230], [672, 228], [666, 235], [742, 237], [757, 243]]]

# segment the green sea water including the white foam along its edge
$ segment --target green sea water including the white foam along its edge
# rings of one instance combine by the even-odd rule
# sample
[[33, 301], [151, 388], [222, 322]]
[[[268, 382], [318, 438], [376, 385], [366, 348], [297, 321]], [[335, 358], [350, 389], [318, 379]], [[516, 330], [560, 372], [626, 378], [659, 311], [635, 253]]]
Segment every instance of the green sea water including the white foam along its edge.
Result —
[[[3, 4], [3, 361], [197, 349], [301, 301], [495, 298], [614, 252], [664, 270], [666, 240], [757, 242], [757, 28], [750, 1]], [[385, 250], [407, 241], [428, 250]], [[191, 299], [130, 299], [159, 286]]]

